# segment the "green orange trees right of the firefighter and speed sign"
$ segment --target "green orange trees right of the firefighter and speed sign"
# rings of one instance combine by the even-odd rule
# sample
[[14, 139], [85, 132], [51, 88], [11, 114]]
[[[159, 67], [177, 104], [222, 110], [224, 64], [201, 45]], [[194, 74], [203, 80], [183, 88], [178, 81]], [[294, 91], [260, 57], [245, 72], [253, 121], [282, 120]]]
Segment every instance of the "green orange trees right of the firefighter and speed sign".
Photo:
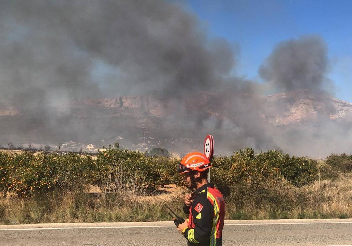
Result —
[[251, 148], [234, 152], [231, 157], [215, 157], [212, 164], [212, 180], [225, 194], [235, 184], [255, 187], [268, 179], [285, 179], [300, 187], [312, 183], [318, 171], [315, 160], [275, 150], [256, 155]]

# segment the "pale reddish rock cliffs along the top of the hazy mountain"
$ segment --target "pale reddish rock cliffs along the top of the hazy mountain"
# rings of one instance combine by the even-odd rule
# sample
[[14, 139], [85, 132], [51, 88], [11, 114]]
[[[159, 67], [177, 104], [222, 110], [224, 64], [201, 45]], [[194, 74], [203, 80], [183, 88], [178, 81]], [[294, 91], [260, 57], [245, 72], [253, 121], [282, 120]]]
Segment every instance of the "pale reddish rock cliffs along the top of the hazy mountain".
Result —
[[[268, 96], [239, 94], [237, 97], [256, 101], [258, 110], [268, 123], [273, 125], [290, 125], [301, 121], [318, 121], [320, 117], [331, 120], [346, 118], [352, 112], [352, 103], [337, 98], [310, 92], [308, 90], [276, 93]], [[125, 112], [140, 112], [156, 117], [165, 117], [172, 110], [206, 111], [209, 115], [223, 115], [226, 106], [232, 104], [231, 97], [216, 93], [199, 92], [194, 98], [179, 101], [174, 99], [157, 99], [151, 96], [121, 96], [116, 98], [100, 98], [80, 102], [86, 106], [115, 108]], [[272, 110], [275, 109], [275, 110]]]

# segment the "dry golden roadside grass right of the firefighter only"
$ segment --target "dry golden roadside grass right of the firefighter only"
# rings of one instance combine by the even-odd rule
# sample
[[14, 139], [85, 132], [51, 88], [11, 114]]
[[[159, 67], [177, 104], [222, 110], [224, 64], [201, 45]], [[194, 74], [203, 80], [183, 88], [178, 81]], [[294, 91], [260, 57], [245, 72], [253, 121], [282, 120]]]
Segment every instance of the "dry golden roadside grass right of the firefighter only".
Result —
[[352, 173], [335, 180], [319, 180], [310, 186], [278, 190], [287, 197], [283, 203], [254, 203], [237, 208], [227, 204], [229, 219], [328, 219], [352, 218]]

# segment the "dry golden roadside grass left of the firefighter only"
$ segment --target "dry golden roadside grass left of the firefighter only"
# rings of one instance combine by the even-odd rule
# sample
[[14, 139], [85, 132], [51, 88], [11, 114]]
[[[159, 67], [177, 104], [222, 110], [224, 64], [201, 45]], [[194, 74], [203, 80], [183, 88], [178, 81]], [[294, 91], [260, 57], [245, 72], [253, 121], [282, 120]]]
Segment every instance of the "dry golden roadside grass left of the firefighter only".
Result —
[[30, 200], [0, 199], [1, 224], [170, 220], [165, 204], [181, 214], [183, 199], [144, 200], [125, 194], [50, 193]]

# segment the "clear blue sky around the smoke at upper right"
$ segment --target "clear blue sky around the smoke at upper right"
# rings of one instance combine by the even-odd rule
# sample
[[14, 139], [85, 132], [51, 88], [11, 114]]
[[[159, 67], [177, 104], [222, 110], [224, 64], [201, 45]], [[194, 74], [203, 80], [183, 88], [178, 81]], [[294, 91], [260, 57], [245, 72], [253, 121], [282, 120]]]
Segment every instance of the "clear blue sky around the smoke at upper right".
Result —
[[258, 68], [281, 41], [320, 35], [328, 48], [335, 97], [352, 102], [352, 1], [189, 0], [210, 37], [240, 49], [236, 73], [260, 82]]

